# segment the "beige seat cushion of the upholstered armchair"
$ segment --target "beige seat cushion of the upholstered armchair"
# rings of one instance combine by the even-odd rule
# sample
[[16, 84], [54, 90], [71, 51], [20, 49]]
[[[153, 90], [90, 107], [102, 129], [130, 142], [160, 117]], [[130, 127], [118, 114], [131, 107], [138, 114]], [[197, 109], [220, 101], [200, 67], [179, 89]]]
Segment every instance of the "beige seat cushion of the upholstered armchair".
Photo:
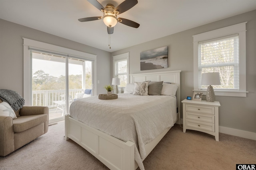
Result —
[[46, 122], [47, 120], [48, 115], [46, 114], [20, 116], [13, 120], [14, 133], [26, 131], [40, 123]]

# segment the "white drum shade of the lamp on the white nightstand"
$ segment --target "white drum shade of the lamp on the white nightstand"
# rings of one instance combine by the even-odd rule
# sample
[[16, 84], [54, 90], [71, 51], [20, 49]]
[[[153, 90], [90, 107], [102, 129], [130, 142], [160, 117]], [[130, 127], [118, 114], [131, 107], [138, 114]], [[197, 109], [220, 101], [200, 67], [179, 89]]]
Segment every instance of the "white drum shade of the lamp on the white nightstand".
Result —
[[220, 73], [208, 72], [202, 74], [201, 85], [220, 85]]

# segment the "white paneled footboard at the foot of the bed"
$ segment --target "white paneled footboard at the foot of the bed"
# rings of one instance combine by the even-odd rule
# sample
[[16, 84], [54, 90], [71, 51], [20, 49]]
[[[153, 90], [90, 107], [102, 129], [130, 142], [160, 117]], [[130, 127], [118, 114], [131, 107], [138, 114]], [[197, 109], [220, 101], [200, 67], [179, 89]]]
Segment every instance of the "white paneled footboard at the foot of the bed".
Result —
[[72, 139], [111, 170], [134, 170], [134, 143], [121, 141], [65, 115], [65, 139]]

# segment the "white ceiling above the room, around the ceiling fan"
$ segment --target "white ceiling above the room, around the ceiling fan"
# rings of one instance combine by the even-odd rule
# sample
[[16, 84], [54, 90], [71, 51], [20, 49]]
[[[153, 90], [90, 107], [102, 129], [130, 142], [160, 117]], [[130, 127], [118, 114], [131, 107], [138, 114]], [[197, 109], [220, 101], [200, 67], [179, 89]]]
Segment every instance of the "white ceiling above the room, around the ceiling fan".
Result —
[[[124, 0], [98, 0], [115, 7]], [[256, 0], [138, 0], [118, 15], [137, 23], [133, 28], [117, 23], [109, 36], [102, 20], [78, 19], [102, 16], [87, 0], [0, 0], [0, 18], [98, 49], [113, 52], [186, 29], [256, 9]]]

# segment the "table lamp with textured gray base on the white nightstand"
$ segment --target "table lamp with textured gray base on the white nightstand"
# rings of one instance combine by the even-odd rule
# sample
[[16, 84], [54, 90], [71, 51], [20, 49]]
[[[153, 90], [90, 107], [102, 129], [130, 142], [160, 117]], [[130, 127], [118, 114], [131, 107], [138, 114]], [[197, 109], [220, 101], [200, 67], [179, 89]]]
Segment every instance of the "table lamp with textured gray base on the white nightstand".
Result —
[[208, 72], [202, 74], [201, 85], [209, 85], [206, 91], [206, 101], [214, 102], [215, 94], [211, 85], [220, 85], [220, 73]]

